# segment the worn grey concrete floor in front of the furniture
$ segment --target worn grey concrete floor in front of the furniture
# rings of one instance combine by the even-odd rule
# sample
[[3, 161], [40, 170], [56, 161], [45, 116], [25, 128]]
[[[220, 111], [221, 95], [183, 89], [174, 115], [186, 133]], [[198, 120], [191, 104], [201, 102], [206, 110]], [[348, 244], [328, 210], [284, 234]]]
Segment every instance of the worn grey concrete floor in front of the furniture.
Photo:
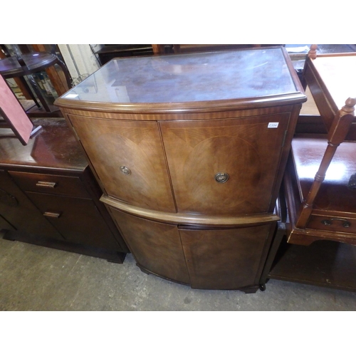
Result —
[[0, 310], [356, 310], [356, 293], [270, 280], [266, 290], [194, 290], [124, 263], [0, 239]]

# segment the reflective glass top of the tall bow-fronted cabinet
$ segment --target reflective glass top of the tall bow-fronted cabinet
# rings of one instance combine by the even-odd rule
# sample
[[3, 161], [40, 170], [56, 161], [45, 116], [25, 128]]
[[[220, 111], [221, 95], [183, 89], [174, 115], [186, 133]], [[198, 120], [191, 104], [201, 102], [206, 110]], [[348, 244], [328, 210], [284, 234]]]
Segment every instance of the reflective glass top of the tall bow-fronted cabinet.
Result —
[[188, 103], [299, 93], [282, 48], [116, 58], [62, 96], [95, 103]]

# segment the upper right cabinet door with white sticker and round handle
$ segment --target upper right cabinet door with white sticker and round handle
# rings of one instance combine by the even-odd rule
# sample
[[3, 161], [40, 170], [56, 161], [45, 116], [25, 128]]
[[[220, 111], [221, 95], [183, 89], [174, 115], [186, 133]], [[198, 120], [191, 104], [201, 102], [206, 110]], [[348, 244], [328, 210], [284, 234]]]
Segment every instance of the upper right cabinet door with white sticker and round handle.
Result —
[[289, 116], [160, 122], [178, 211], [267, 212]]

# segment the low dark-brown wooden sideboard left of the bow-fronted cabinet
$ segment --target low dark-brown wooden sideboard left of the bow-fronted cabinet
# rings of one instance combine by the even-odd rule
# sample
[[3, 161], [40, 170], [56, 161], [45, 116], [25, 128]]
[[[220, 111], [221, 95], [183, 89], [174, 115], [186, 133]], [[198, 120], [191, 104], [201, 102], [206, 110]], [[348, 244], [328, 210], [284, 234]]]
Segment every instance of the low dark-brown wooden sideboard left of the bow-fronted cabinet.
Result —
[[6, 238], [121, 263], [127, 246], [99, 201], [98, 184], [66, 121], [41, 125], [26, 146], [15, 137], [0, 142], [0, 223]]

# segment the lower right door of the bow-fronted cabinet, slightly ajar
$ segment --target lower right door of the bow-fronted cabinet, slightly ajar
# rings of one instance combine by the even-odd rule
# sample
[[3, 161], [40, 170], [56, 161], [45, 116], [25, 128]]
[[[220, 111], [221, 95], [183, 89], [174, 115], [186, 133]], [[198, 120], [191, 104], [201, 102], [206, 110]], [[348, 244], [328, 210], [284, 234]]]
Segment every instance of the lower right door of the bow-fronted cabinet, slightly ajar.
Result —
[[267, 224], [231, 230], [180, 229], [192, 288], [256, 286], [270, 227]]

